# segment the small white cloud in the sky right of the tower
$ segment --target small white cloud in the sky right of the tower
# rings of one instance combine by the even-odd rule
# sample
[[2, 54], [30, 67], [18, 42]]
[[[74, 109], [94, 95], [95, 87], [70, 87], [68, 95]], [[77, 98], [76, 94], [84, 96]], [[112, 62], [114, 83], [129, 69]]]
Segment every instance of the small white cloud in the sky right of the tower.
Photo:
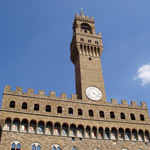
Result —
[[146, 64], [138, 68], [137, 76], [135, 76], [133, 80], [137, 79], [142, 81], [142, 86], [150, 84], [150, 64]]

